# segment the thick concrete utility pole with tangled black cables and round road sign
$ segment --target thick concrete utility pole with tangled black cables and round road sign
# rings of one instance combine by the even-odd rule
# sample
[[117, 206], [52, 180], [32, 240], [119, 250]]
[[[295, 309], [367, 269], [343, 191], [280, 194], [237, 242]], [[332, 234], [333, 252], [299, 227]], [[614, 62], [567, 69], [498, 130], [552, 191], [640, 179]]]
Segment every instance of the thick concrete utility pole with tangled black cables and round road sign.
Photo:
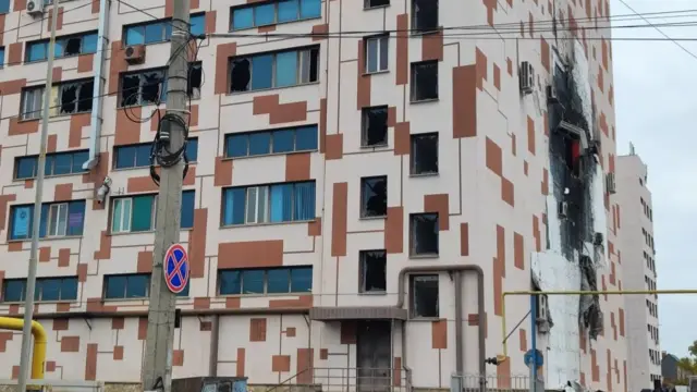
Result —
[[[187, 123], [188, 97], [188, 20], [189, 0], [174, 0], [172, 15], [171, 58], [168, 70], [167, 113], [180, 117]], [[178, 122], [168, 122], [169, 150], [176, 151], [184, 145], [184, 128]], [[150, 278], [150, 304], [148, 307], [148, 333], [145, 345], [143, 389], [169, 392], [172, 387], [172, 346], [174, 341], [174, 311], [176, 295], [164, 282], [164, 254], [179, 243], [180, 213], [182, 208], [182, 182], [184, 160], [160, 173], [160, 194], [157, 204], [157, 226]], [[161, 384], [159, 381], [161, 380]]]

